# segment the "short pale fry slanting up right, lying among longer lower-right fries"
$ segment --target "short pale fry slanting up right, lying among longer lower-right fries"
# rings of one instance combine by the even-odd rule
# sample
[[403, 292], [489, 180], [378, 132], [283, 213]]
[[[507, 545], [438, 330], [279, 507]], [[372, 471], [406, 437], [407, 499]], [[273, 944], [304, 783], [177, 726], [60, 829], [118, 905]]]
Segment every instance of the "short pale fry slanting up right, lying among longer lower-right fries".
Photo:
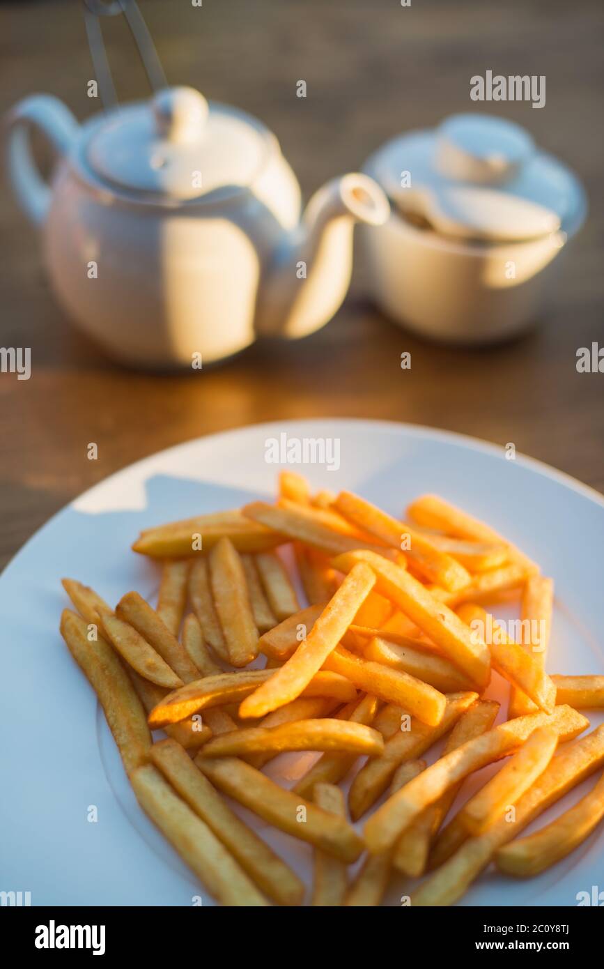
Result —
[[470, 834], [480, 834], [498, 821], [508, 804], [514, 804], [548, 766], [558, 745], [558, 733], [538, 727], [520, 750], [460, 811], [460, 822]]

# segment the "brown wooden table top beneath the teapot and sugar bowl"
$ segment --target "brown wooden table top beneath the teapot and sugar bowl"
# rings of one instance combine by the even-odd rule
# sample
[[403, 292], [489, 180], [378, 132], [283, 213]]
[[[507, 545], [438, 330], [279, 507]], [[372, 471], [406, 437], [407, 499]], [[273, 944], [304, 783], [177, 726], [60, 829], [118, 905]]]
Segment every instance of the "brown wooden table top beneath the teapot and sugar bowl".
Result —
[[[38, 240], [6, 183], [0, 196], [0, 343], [28, 346], [32, 376], [0, 374], [0, 562], [84, 488], [169, 445], [243, 424], [355, 416], [444, 427], [531, 454], [604, 487], [601, 374], [576, 371], [602, 337], [602, 70], [599, 0], [140, 0], [170, 82], [260, 116], [278, 135], [305, 195], [359, 167], [394, 133], [472, 108], [469, 78], [487, 69], [546, 75], [544, 109], [500, 104], [584, 180], [589, 221], [560, 261], [555, 308], [541, 326], [490, 350], [424, 343], [364, 297], [357, 266], [329, 326], [293, 344], [251, 348], [182, 376], [120, 368], [54, 303]], [[120, 18], [121, 19], [121, 18]], [[106, 24], [120, 96], [146, 95], [124, 24]], [[80, 118], [93, 77], [74, 0], [0, 4], [4, 111], [47, 90]], [[306, 100], [295, 97], [305, 79]], [[403, 351], [411, 369], [402, 370]], [[88, 460], [96, 442], [98, 460]]]

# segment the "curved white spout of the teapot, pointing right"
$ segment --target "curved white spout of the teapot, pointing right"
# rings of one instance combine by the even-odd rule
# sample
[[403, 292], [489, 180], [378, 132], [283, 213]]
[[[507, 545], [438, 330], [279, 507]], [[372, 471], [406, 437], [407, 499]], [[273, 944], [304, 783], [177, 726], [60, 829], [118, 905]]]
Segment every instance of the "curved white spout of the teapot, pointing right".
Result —
[[267, 268], [258, 333], [297, 339], [324, 326], [347, 294], [354, 223], [379, 226], [389, 212], [386, 196], [369, 175], [353, 172], [323, 185]]

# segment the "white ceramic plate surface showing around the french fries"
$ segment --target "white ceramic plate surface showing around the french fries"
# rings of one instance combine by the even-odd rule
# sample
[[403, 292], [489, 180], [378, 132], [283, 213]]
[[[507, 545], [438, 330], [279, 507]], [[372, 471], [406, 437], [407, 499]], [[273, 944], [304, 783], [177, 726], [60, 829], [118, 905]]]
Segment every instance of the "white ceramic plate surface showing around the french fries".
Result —
[[[338, 470], [298, 468], [316, 487], [357, 490], [394, 514], [415, 495], [433, 491], [488, 520], [556, 579], [548, 669], [604, 672], [596, 641], [604, 499], [585, 485], [528, 458], [507, 460], [492, 445], [388, 422], [263, 424], [180, 445], [86, 492], [0, 578], [0, 891], [31, 891], [33, 905], [191, 905], [201, 893], [139, 810], [105, 718], [59, 636], [60, 612], [68, 605], [60, 578], [92, 584], [111, 603], [129, 589], [152, 596], [158, 570], [130, 551], [138, 531], [273, 495], [280, 466], [266, 462], [266, 442], [281, 433], [339, 441]], [[495, 683], [489, 695], [499, 696], [500, 687]], [[589, 719], [595, 726], [602, 717]], [[312, 760], [283, 755], [271, 773], [289, 783]], [[88, 821], [91, 805], [96, 823]], [[310, 849], [241, 813], [308, 881]], [[462, 904], [576, 905], [577, 892], [601, 883], [603, 870], [600, 826], [539, 878], [517, 882], [485, 873]], [[408, 888], [394, 885], [387, 902], [400, 904], [403, 891]], [[212, 904], [205, 894], [203, 904]]]

